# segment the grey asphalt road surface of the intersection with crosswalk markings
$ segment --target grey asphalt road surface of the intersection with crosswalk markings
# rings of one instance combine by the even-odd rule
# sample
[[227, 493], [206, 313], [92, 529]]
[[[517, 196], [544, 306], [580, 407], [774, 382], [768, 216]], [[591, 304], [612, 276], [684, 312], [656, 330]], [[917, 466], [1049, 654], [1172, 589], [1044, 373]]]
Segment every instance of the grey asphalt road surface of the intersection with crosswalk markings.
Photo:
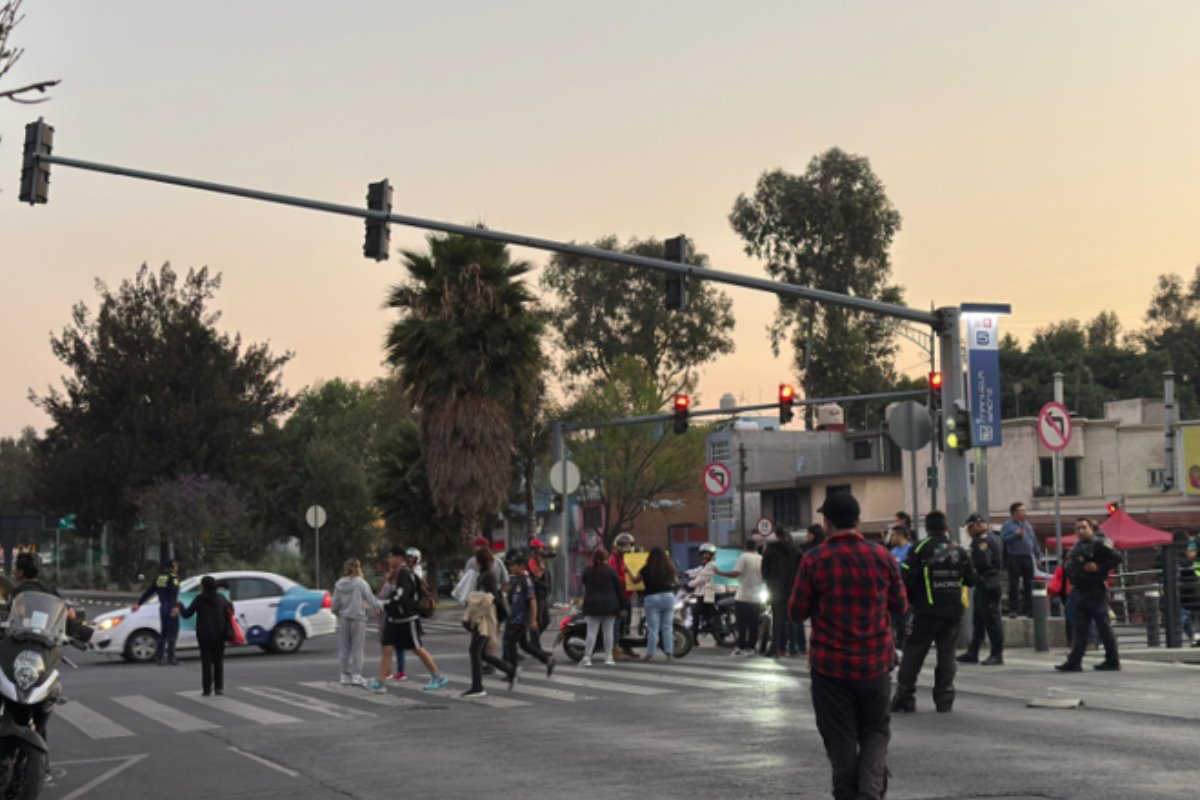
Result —
[[[342, 690], [332, 637], [294, 656], [232, 655], [220, 703], [197, 697], [194, 655], [182, 667], [84, 655], [64, 675], [72, 702], [50, 722], [43, 796], [829, 796], [802, 661], [706, 645], [672, 666], [564, 664], [548, 681], [530, 668], [516, 691], [493, 680], [464, 702], [466, 637], [436, 627], [427, 644], [454, 693], [422, 693], [415, 664], [385, 696]], [[1060, 675], [1058, 658], [964, 667], [949, 715], [932, 712], [926, 670], [918, 712], [894, 720], [889, 798], [1196, 796], [1200, 667]], [[1086, 704], [1026, 708], [1033, 697]]]

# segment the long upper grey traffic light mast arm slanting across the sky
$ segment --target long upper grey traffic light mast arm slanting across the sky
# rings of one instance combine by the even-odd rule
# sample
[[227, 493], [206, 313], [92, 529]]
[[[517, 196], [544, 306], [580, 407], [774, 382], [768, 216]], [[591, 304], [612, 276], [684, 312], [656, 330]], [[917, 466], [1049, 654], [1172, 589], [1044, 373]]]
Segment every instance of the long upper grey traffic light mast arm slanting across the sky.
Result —
[[661, 272], [670, 272], [673, 275], [695, 276], [702, 281], [714, 281], [716, 283], [726, 283], [730, 285], [743, 287], [745, 289], [758, 289], [760, 291], [770, 291], [780, 296], [799, 297], [802, 300], [812, 300], [816, 302], [823, 302], [834, 306], [844, 306], [846, 308], [864, 311], [871, 314], [880, 314], [882, 317], [906, 319], [913, 323], [920, 323], [923, 325], [930, 325], [930, 326], [938, 325], [937, 315], [928, 311], [908, 308], [907, 306], [899, 306], [890, 302], [883, 302], [881, 300], [871, 300], [869, 297], [852, 297], [850, 295], [838, 294], [836, 291], [814, 289], [810, 287], [797, 285], [794, 283], [784, 283], [781, 281], [756, 278], [749, 275], [738, 275], [736, 272], [722, 272], [719, 270], [710, 270], [706, 267], [694, 266], [691, 264], [668, 261], [661, 258], [649, 258], [646, 255], [635, 255], [632, 253], [618, 253], [614, 251], [601, 249], [598, 247], [569, 245], [564, 242], [551, 241], [548, 239], [539, 239], [536, 236], [523, 236], [520, 234], [504, 233], [502, 230], [474, 228], [472, 225], [458, 225], [450, 222], [424, 219], [421, 217], [410, 217], [402, 213], [384, 213], [382, 211], [371, 211], [368, 209], [362, 209], [353, 205], [325, 203], [324, 200], [312, 200], [307, 198], [292, 197], [289, 194], [277, 194], [274, 192], [260, 192], [258, 190], [245, 188], [241, 186], [214, 184], [211, 181], [200, 181], [192, 178], [180, 178], [178, 175], [150, 173], [142, 169], [130, 169], [127, 167], [101, 164], [97, 162], [80, 161], [78, 158], [67, 158], [64, 156], [41, 156], [38, 161], [46, 161], [50, 164], [59, 164], [61, 167], [73, 167], [76, 169], [85, 169], [94, 173], [107, 173], [109, 175], [120, 175], [124, 178], [136, 178], [139, 180], [155, 181], [158, 184], [169, 184], [172, 186], [197, 188], [204, 192], [216, 192], [218, 194], [233, 194], [235, 197], [244, 197], [252, 200], [277, 203], [280, 205], [293, 205], [301, 209], [311, 209], [313, 211], [325, 211], [326, 213], [341, 213], [347, 217], [359, 217], [361, 219], [383, 219], [390, 223], [395, 223], [397, 225], [407, 225], [409, 228], [421, 228], [425, 230], [437, 230], [446, 234], [460, 234], [463, 236], [473, 236], [475, 239], [487, 239], [491, 241], [499, 241], [517, 247], [532, 247], [534, 249], [544, 249], [544, 251], [550, 251], [552, 253], [563, 253], [564, 255], [594, 258], [598, 260], [610, 261], [613, 264], [640, 266], [650, 270], [659, 270]]

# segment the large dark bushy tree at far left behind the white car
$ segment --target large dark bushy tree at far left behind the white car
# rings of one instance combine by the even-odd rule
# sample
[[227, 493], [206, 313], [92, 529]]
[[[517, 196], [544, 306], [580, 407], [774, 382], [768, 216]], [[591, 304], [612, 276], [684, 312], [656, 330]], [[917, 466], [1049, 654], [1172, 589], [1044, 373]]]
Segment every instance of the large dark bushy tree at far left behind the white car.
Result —
[[31, 395], [52, 421], [36, 449], [38, 499], [76, 512], [84, 534], [108, 523], [119, 582], [134, 560], [136, 492], [187, 474], [236, 483], [292, 408], [280, 386], [290, 355], [218, 332], [208, 306], [220, 285], [206, 269], [180, 279], [170, 265], [143, 266], [115, 291], [97, 282], [96, 315], [78, 303], [50, 339], [70, 371], [62, 391]]

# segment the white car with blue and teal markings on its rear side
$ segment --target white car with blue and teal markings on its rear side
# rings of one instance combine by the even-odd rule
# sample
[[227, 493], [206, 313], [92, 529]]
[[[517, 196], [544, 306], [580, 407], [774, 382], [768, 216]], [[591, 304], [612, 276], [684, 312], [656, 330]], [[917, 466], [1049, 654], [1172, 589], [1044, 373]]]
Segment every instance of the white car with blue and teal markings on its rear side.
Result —
[[[272, 572], [212, 572], [218, 585], [227, 589], [233, 601], [234, 615], [246, 634], [246, 644], [256, 644], [270, 652], [298, 652], [305, 639], [329, 636], [337, 631], [337, 619], [330, 608], [328, 591], [305, 589], [295, 581]], [[180, 602], [185, 606], [200, 589], [200, 578], [188, 578], [180, 585]], [[133, 610], [101, 614], [91, 621], [95, 634], [88, 649], [126, 661], [154, 660], [158, 639], [158, 599], [151, 597]], [[176, 650], [198, 646], [196, 618], [180, 619]]]

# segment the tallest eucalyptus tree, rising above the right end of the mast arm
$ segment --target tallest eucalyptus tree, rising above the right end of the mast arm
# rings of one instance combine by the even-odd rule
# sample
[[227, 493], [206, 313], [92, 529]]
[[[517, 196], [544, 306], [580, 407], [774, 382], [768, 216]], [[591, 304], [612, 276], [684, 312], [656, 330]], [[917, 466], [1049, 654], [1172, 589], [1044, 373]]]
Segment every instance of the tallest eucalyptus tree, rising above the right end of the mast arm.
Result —
[[[763, 173], [754, 197], [738, 196], [730, 224], [770, 277], [828, 291], [899, 303], [888, 251], [900, 213], [870, 162], [836, 148], [804, 175]], [[780, 297], [772, 344], [788, 339], [805, 397], [887, 390], [894, 383], [893, 320], [794, 297]], [[811, 407], [805, 409], [809, 426]]]

